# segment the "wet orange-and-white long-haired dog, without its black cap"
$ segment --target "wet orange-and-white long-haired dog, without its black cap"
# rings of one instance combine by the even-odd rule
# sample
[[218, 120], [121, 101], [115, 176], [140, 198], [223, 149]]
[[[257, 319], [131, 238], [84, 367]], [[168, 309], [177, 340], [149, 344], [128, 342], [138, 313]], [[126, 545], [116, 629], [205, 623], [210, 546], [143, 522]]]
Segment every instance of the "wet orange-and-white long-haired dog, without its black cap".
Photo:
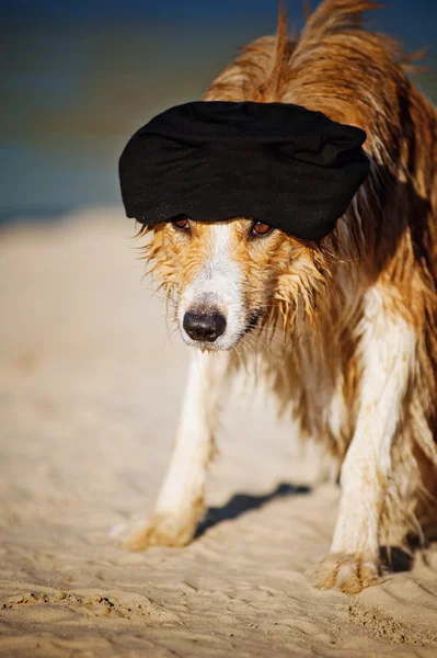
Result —
[[296, 41], [250, 44], [206, 101], [294, 103], [363, 128], [370, 173], [319, 242], [246, 217], [143, 227], [145, 258], [200, 350], [154, 514], [133, 549], [183, 546], [204, 512], [207, 466], [241, 363], [324, 445], [342, 488], [331, 551], [312, 574], [347, 593], [380, 581], [382, 542], [434, 512], [437, 485], [437, 113], [393, 41], [361, 26], [370, 0], [324, 0]]

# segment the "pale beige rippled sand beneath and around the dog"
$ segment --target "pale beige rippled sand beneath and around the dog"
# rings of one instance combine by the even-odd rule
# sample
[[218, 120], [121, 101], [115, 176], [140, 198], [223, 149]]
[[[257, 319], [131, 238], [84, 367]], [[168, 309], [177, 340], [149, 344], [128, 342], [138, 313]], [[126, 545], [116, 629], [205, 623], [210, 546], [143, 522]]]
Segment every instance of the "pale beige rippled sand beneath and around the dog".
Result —
[[101, 208], [0, 235], [0, 655], [436, 656], [437, 547], [359, 595], [311, 589], [338, 490], [251, 396], [226, 412], [200, 536], [114, 544], [152, 509], [189, 359], [133, 232]]

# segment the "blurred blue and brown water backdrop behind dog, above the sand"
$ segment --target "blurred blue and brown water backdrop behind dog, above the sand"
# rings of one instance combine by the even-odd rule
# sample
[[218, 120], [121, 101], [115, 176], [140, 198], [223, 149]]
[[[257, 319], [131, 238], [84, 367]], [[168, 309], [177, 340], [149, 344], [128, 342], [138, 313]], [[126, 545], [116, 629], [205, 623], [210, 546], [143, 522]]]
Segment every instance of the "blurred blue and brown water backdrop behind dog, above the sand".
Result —
[[[437, 3], [395, 4], [381, 30], [433, 44]], [[288, 8], [300, 27], [300, 1]], [[275, 31], [276, 12], [276, 0], [0, 0], [0, 222], [119, 203], [129, 135], [198, 99], [238, 46]], [[419, 84], [437, 100], [434, 69]]]

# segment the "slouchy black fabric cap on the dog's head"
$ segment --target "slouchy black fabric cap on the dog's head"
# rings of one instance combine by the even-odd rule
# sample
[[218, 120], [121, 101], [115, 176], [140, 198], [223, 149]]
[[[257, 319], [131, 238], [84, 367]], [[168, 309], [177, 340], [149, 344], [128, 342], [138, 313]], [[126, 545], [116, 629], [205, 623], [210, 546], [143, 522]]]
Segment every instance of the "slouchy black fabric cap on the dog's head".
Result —
[[128, 217], [246, 217], [320, 240], [369, 172], [366, 133], [285, 103], [198, 101], [152, 118], [119, 160]]

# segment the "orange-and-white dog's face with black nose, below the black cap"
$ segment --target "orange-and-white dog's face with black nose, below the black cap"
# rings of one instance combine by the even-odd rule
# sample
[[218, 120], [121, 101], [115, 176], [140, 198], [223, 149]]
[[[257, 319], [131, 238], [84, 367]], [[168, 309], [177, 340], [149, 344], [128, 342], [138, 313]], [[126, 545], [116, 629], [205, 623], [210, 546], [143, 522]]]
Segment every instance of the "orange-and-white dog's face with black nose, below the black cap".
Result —
[[230, 350], [279, 317], [289, 328], [299, 306], [312, 315], [325, 283], [321, 250], [267, 224], [183, 217], [152, 230], [146, 257], [174, 299], [183, 340], [202, 350]]

